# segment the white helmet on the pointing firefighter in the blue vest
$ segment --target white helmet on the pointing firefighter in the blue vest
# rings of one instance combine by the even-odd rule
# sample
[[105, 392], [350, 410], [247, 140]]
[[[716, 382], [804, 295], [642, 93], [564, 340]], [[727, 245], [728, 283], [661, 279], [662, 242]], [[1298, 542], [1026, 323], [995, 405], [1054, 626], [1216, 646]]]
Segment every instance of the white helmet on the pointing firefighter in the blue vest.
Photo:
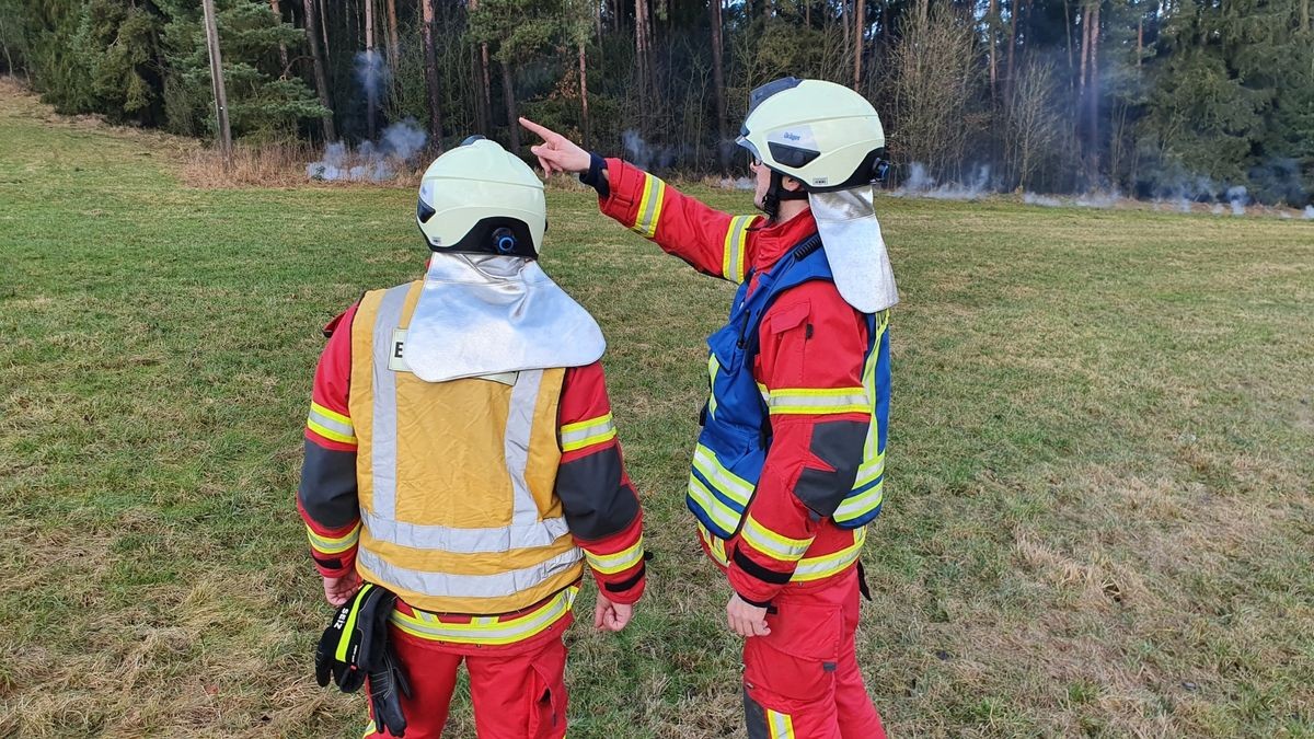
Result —
[[876, 109], [833, 82], [782, 78], [758, 87], [740, 134], [735, 142], [754, 159], [809, 192], [871, 183], [887, 166]]

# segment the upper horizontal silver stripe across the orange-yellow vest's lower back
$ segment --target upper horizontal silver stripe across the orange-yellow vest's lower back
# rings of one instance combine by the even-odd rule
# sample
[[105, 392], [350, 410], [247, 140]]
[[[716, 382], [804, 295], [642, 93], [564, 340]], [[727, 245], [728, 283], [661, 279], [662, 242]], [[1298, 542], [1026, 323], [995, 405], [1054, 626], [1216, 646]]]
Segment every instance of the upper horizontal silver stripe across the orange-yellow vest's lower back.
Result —
[[548, 518], [524, 526], [511, 525], [495, 529], [453, 529], [403, 523], [371, 512], [363, 512], [361, 521], [369, 530], [369, 535], [377, 542], [457, 554], [507, 552], [519, 548], [549, 547], [570, 530], [565, 518]]

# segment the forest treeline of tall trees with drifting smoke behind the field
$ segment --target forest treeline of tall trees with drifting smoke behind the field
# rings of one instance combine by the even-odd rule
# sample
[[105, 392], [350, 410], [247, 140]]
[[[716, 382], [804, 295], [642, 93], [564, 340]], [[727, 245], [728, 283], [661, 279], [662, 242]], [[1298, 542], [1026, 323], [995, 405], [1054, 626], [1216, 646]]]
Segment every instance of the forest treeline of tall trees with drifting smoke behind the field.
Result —
[[[516, 116], [685, 174], [744, 171], [748, 92], [866, 95], [896, 176], [1314, 197], [1314, 0], [215, 0], [233, 135], [414, 120], [527, 154]], [[201, 0], [0, 0], [0, 70], [58, 110], [214, 138]]]

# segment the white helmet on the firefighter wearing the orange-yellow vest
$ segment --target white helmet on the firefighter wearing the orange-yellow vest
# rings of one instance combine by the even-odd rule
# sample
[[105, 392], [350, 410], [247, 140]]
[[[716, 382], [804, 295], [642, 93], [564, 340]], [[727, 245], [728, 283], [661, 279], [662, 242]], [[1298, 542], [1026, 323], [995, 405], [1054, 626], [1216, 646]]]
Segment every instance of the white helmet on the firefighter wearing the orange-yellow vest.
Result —
[[424, 171], [415, 222], [434, 251], [535, 259], [548, 206], [528, 164], [497, 142], [472, 135]]

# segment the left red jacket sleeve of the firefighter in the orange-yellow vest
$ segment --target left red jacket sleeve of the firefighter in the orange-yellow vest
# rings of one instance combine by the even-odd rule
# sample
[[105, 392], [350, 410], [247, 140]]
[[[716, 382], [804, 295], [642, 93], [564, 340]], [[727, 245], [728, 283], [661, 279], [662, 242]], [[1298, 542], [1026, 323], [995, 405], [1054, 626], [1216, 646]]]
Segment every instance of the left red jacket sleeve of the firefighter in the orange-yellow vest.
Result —
[[325, 577], [340, 577], [356, 567], [360, 539], [356, 431], [347, 409], [355, 316], [353, 305], [325, 327], [328, 345], [315, 368], [297, 489], [297, 510], [306, 523], [310, 556]]

